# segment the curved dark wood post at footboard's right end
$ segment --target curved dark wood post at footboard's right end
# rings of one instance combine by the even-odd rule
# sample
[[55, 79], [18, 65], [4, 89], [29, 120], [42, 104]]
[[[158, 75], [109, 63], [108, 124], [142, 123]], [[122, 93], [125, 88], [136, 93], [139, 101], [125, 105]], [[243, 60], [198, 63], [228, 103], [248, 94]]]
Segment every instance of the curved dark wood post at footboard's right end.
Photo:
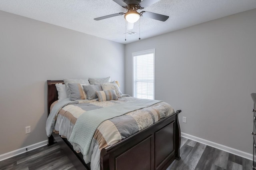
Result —
[[[180, 132], [180, 123], [179, 123], [179, 113], [181, 112], [181, 110], [177, 111], [178, 114], [176, 115], [176, 123], [175, 123], [175, 158], [177, 160], [180, 160], [180, 142], [181, 142], [181, 132]], [[177, 140], [177, 138], [179, 140]]]

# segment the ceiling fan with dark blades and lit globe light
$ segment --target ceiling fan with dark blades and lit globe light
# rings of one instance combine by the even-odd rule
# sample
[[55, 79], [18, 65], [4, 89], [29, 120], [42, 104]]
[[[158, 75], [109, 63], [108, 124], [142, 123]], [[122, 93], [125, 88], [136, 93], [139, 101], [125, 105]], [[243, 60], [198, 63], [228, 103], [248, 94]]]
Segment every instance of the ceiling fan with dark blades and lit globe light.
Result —
[[114, 17], [114, 16], [120, 16], [124, 15], [125, 20], [128, 23], [134, 23], [137, 22], [141, 16], [144, 16], [146, 18], [151, 18], [154, 20], [159, 20], [159, 21], [166, 21], [169, 16], [161, 15], [161, 14], [156, 14], [153, 12], [147, 12], [147, 11], [142, 11], [142, 12], [137, 12], [137, 10], [142, 10], [143, 8], [146, 8], [160, 0], [113, 0], [123, 8], [127, 10], [126, 13], [120, 12], [116, 14], [111, 14], [107, 16], [102, 16], [99, 18], [94, 18], [94, 20], [103, 20], [106, 18]]

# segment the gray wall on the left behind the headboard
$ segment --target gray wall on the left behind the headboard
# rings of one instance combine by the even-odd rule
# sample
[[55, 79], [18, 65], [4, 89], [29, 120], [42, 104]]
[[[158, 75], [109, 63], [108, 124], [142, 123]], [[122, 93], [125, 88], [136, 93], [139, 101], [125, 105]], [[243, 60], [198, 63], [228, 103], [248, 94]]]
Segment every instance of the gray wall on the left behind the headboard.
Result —
[[111, 76], [124, 91], [123, 44], [3, 11], [0, 23], [0, 154], [47, 139], [46, 80]]

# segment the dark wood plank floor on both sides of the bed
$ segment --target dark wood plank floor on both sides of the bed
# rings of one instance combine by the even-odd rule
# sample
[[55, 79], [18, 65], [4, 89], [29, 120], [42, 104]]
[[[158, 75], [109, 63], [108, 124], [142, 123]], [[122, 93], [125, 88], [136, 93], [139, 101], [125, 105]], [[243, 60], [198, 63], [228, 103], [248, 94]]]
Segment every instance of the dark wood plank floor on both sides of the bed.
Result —
[[[182, 138], [180, 160], [167, 170], [252, 170], [252, 161]], [[0, 170], [76, 170], [58, 144], [0, 162]]]

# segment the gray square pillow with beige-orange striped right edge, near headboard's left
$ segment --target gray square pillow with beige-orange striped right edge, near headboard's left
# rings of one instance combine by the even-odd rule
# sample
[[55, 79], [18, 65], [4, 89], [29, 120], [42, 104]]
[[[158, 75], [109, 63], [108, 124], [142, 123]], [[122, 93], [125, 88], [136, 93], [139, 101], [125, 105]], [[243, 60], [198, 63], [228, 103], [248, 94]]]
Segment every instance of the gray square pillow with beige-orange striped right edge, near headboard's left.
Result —
[[71, 100], [84, 100], [87, 99], [86, 93], [84, 91], [83, 85], [80, 83], [68, 83], [70, 90], [70, 99]]

